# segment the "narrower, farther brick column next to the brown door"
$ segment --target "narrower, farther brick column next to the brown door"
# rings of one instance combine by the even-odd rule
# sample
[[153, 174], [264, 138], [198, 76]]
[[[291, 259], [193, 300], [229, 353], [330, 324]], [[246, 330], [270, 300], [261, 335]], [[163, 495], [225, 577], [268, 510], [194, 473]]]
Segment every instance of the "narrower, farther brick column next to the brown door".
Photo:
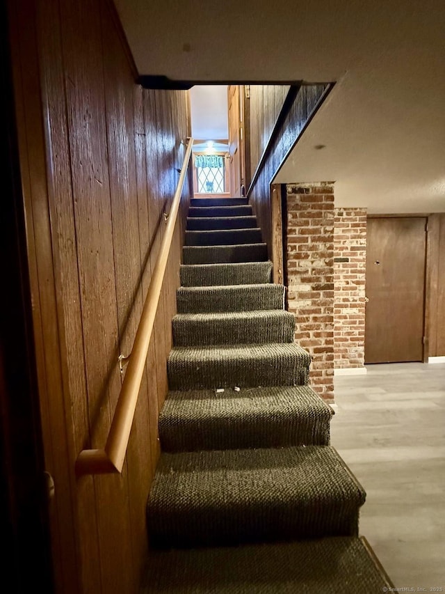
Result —
[[364, 367], [366, 208], [336, 208], [334, 367]]

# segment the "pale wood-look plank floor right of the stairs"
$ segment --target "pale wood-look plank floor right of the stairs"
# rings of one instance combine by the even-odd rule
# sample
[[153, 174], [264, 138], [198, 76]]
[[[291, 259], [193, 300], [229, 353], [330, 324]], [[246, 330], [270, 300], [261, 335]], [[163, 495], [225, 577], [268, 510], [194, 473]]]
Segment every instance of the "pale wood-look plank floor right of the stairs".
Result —
[[366, 368], [335, 377], [331, 424], [366, 490], [359, 532], [396, 588], [445, 592], [445, 364]]

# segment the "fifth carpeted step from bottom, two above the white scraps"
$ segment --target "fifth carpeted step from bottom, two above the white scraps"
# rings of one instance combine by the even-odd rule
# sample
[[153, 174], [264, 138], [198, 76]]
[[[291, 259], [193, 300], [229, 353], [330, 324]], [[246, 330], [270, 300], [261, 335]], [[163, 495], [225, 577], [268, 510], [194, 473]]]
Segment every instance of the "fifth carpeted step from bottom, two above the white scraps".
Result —
[[280, 309], [222, 313], [179, 313], [172, 320], [173, 344], [234, 345], [291, 343], [295, 316]]

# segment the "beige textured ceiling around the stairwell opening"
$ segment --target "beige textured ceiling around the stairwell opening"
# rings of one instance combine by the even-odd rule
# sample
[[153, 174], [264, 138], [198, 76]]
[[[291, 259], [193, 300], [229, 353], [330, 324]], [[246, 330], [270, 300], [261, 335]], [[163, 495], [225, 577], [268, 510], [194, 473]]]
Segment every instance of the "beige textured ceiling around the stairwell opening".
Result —
[[335, 181], [337, 205], [369, 212], [445, 211], [442, 0], [115, 6], [140, 75], [336, 82], [276, 181]]

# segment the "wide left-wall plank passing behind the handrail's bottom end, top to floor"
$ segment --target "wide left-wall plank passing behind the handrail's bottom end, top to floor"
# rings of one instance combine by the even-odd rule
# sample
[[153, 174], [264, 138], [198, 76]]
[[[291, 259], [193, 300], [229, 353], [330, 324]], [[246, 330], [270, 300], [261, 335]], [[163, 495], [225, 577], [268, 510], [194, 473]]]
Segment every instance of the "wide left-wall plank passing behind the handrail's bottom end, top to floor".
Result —
[[[83, 334], [86, 337], [86, 382], [92, 447], [103, 447], [120, 390], [116, 360], [118, 302], [114, 235], [111, 213], [106, 105], [104, 104], [104, 54], [100, 4], [86, 10], [83, 1], [60, 1], [65, 58], [65, 85], [70, 127], [72, 187], [81, 286]], [[109, 44], [109, 40], [108, 40]], [[109, 51], [109, 47], [107, 48]], [[119, 91], [117, 91], [119, 93]], [[123, 159], [120, 167], [124, 169]], [[114, 231], [114, 233], [113, 233]], [[107, 480], [111, 478], [111, 480]], [[95, 508], [103, 591], [125, 588], [116, 563], [131, 570], [128, 507], [124, 505], [124, 478], [95, 477]], [[109, 510], [114, 513], [110, 514]], [[120, 531], [121, 542], [115, 540]], [[81, 526], [88, 533], [88, 526]], [[84, 586], [85, 587], [85, 586]]]

